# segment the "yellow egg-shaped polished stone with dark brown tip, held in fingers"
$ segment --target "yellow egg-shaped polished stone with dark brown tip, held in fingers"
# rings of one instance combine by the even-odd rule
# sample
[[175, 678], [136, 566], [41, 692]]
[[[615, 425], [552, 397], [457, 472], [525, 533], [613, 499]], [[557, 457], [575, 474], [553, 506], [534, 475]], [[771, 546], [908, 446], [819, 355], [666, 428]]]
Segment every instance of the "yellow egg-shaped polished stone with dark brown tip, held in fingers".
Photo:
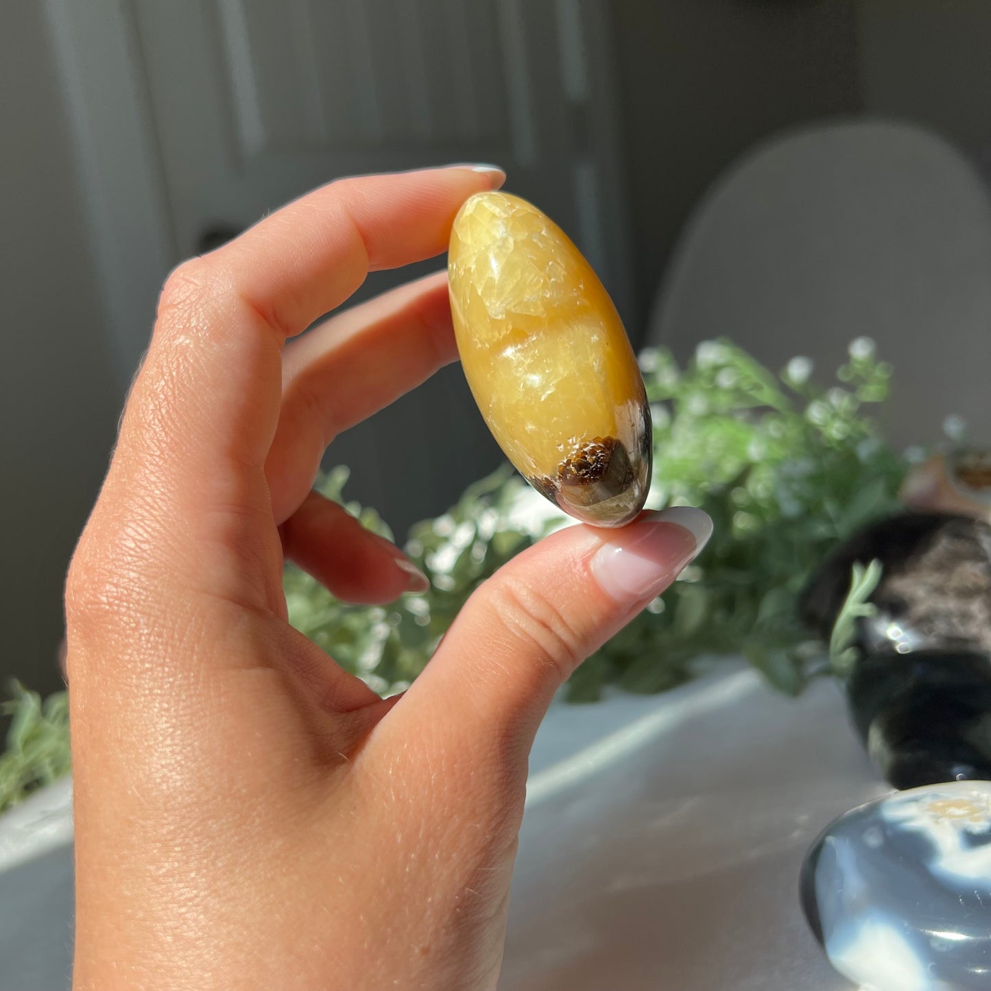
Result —
[[535, 206], [483, 192], [455, 218], [448, 275], [465, 377], [506, 457], [571, 515], [629, 522], [647, 496], [650, 409], [592, 267]]

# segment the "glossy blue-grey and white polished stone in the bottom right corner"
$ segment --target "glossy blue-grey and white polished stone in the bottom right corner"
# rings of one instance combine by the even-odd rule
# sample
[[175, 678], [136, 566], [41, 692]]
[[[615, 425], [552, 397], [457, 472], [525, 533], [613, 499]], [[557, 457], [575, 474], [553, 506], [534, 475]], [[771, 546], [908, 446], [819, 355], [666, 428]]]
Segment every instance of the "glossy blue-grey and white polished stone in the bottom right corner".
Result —
[[991, 782], [841, 816], [806, 857], [802, 903], [832, 965], [865, 991], [988, 991]]

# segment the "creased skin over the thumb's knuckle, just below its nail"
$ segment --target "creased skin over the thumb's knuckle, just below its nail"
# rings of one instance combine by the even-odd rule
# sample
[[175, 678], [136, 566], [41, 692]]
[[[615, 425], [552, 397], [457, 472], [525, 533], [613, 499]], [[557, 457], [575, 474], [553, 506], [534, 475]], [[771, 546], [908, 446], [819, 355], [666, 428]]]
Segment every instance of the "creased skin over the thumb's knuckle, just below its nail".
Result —
[[493, 590], [502, 625], [524, 653], [564, 681], [585, 659], [586, 636], [578, 623], [539, 589], [506, 576]]

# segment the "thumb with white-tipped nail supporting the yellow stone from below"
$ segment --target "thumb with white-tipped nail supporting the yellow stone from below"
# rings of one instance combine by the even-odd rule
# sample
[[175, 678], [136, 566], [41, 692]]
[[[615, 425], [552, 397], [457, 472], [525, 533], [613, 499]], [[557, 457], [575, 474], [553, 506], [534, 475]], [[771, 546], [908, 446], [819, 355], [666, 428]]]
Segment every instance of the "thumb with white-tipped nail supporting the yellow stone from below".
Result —
[[573, 526], [541, 540], [476, 590], [392, 716], [444, 726], [462, 752], [481, 746], [491, 760], [493, 745], [508, 744], [525, 757], [554, 693], [712, 532], [701, 509], [677, 506], [619, 530]]

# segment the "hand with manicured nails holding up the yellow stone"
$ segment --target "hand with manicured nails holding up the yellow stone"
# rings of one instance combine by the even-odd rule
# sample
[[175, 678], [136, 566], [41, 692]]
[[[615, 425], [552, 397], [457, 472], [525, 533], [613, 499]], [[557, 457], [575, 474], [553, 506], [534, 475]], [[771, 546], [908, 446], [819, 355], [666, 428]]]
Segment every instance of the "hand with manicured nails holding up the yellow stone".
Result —
[[281, 574], [361, 602], [422, 587], [310, 486], [338, 432], [456, 359], [446, 279], [284, 342], [368, 271], [443, 252], [502, 177], [334, 182], [168, 278], [66, 589], [76, 991], [495, 985], [537, 724], [708, 517], [541, 541], [399, 699], [289, 626]]

